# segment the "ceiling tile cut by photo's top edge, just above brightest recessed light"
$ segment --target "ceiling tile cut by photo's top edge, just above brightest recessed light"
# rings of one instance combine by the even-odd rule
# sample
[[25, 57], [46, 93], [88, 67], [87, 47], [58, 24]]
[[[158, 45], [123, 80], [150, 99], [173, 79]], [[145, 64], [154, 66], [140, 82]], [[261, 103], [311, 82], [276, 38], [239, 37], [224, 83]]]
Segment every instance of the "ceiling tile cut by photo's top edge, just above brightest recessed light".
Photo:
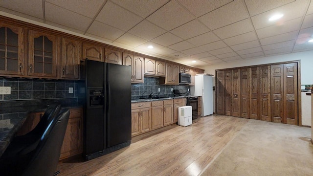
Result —
[[294, 0], [245, 0], [251, 16], [280, 7]]

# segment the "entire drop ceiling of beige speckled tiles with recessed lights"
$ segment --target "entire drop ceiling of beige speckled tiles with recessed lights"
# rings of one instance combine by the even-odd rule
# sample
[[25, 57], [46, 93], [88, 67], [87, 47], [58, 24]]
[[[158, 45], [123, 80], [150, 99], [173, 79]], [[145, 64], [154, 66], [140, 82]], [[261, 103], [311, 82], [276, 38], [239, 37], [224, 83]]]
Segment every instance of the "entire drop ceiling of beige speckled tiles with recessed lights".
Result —
[[313, 50], [313, 0], [0, 0], [0, 11], [190, 66]]

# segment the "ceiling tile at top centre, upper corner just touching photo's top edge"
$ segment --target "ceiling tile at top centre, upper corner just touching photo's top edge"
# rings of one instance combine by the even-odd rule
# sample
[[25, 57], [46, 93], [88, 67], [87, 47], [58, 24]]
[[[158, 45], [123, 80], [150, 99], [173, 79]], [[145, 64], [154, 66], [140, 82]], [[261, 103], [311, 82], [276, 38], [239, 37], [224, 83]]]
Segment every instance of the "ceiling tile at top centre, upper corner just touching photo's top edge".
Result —
[[147, 20], [166, 30], [172, 30], [195, 19], [192, 14], [172, 0], [151, 14]]

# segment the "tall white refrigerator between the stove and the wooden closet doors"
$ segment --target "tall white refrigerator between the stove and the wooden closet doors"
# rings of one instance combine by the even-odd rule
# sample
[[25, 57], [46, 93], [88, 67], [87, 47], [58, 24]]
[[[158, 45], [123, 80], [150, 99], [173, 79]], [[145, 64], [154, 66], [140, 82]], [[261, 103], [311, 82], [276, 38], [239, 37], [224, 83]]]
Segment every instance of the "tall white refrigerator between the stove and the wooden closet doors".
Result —
[[213, 75], [197, 74], [195, 86], [190, 87], [191, 95], [202, 96], [201, 116], [213, 114]]

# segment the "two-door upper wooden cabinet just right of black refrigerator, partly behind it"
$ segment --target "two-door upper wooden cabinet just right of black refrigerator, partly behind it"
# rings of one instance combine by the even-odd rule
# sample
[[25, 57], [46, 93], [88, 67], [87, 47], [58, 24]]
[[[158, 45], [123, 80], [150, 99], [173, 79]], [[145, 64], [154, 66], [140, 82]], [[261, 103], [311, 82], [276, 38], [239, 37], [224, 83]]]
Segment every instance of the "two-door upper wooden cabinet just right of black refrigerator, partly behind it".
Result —
[[132, 83], [143, 83], [144, 59], [142, 56], [123, 52], [123, 65], [132, 66]]

